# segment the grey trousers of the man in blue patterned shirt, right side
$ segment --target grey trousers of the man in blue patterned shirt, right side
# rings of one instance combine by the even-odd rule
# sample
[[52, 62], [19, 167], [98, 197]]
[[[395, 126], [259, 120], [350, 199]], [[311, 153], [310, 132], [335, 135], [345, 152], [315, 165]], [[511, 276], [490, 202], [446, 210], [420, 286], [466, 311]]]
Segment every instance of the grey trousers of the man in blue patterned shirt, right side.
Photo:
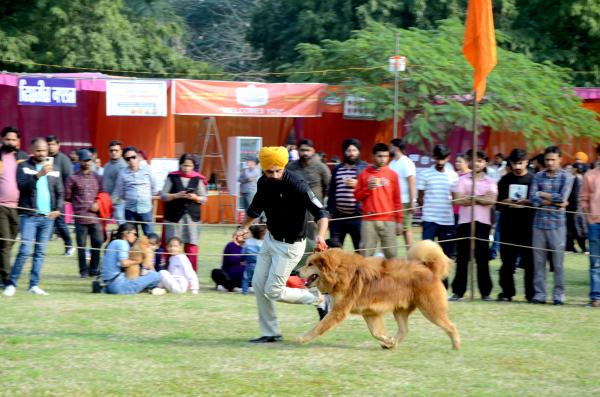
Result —
[[[565, 273], [564, 249], [567, 231], [565, 226], [558, 229], [533, 228], [533, 299], [546, 300], [546, 259], [552, 256], [554, 265], [554, 291], [552, 299], [564, 302], [565, 299]], [[536, 248], [546, 248], [555, 251], [543, 251]]]

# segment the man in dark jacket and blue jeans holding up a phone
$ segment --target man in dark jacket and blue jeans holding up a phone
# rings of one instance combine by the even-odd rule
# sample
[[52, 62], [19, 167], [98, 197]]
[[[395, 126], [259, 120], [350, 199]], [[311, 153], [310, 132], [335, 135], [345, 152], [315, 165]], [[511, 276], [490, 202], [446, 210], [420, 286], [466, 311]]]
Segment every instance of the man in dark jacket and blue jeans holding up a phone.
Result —
[[31, 145], [33, 156], [17, 167], [21, 246], [10, 274], [9, 284], [4, 290], [5, 296], [15, 294], [17, 280], [34, 244], [29, 292], [48, 295], [38, 285], [40, 272], [46, 256], [47, 243], [54, 228], [54, 220], [60, 215], [64, 205], [62, 179], [60, 172], [54, 170], [52, 163], [47, 160], [46, 140], [35, 138]]

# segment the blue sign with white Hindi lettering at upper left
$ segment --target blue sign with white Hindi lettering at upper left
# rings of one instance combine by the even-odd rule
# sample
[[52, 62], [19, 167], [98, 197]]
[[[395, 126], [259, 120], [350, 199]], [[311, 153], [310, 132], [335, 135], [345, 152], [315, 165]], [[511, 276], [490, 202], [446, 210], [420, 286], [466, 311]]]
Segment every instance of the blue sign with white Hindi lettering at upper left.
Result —
[[77, 106], [75, 80], [19, 78], [19, 105]]

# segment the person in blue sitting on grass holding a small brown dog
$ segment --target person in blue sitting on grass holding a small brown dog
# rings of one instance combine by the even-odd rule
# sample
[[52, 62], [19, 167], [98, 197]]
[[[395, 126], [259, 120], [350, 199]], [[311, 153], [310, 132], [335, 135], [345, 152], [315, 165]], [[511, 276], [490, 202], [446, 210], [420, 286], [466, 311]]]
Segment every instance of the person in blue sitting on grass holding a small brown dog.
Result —
[[123, 268], [138, 266], [139, 262], [129, 259], [129, 249], [137, 239], [135, 225], [125, 222], [112, 233], [110, 242], [102, 258], [102, 281], [109, 294], [137, 294], [145, 289], [151, 289], [155, 295], [165, 291], [155, 288], [160, 282], [160, 275], [149, 270], [147, 274], [135, 279], [125, 277]]

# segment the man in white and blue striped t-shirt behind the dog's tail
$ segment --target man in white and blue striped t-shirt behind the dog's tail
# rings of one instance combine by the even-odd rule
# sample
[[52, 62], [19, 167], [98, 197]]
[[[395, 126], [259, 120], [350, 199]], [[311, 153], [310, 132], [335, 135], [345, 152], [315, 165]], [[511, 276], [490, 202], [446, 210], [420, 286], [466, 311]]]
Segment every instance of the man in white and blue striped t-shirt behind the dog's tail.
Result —
[[433, 158], [435, 164], [424, 170], [417, 180], [417, 204], [423, 206], [423, 240], [435, 240], [437, 237], [444, 253], [454, 257], [455, 244], [446, 240], [456, 236], [452, 197], [458, 186], [458, 174], [446, 167], [450, 159], [446, 145], [436, 145]]

